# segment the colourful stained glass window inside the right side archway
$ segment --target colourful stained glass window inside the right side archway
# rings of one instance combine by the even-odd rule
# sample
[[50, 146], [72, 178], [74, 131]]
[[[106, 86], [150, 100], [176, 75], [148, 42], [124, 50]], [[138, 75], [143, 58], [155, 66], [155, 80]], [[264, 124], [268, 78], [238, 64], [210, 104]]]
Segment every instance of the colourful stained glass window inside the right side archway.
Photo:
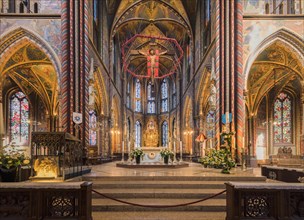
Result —
[[292, 143], [291, 98], [281, 92], [274, 102], [273, 132], [275, 143]]

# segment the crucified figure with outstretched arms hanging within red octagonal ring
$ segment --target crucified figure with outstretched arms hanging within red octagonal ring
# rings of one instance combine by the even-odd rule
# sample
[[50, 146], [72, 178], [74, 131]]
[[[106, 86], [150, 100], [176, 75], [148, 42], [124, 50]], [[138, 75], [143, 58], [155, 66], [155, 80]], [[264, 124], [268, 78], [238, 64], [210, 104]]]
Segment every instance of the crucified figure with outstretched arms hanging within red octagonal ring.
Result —
[[168, 51], [162, 51], [150, 49], [149, 52], [138, 50], [138, 53], [144, 55], [147, 58], [147, 74], [151, 77], [152, 85], [154, 85], [154, 77], [158, 77], [159, 57]]

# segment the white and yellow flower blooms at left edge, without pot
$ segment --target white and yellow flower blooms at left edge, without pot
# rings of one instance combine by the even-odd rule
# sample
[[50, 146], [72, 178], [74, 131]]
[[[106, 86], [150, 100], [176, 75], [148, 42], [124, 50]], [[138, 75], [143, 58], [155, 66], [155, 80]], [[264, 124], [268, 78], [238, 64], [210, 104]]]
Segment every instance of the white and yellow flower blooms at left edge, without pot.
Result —
[[15, 145], [11, 144], [0, 148], [0, 167], [2, 169], [9, 170], [18, 166], [29, 165], [29, 163], [30, 159], [24, 153], [20, 153]]

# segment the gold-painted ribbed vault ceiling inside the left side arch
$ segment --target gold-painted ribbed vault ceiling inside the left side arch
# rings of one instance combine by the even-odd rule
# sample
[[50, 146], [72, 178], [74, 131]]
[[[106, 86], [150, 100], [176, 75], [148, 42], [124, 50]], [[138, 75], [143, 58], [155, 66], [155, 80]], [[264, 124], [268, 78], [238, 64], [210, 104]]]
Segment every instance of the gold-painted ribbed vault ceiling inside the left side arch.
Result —
[[[9, 78], [30, 96], [37, 93], [48, 110], [55, 111], [57, 103], [57, 74], [49, 58], [38, 47], [28, 42], [17, 49], [3, 64], [2, 79]], [[4, 80], [11, 83], [11, 80]]]

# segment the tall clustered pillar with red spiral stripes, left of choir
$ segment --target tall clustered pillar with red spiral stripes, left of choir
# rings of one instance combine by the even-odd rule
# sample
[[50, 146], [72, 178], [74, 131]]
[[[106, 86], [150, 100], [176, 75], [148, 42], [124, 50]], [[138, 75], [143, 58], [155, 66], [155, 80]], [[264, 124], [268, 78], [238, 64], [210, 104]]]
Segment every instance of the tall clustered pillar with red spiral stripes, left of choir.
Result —
[[[88, 53], [88, 21], [86, 14], [88, 0], [61, 1], [61, 47], [64, 48], [61, 56], [61, 122], [63, 131], [74, 134], [88, 144], [88, 89], [90, 59]], [[83, 116], [80, 128], [74, 127], [73, 112]], [[79, 130], [80, 132], [76, 132]]]

